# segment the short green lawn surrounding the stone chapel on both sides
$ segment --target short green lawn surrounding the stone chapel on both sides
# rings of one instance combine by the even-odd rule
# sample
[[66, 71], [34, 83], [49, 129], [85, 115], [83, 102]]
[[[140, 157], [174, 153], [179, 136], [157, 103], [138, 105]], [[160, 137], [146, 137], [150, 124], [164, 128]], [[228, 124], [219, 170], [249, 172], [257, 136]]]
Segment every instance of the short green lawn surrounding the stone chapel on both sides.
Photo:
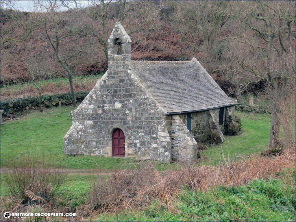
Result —
[[[42, 113], [31, 112], [20, 120], [11, 120], [1, 126], [1, 166], [9, 160], [22, 160], [24, 155], [45, 155], [49, 164], [59, 164], [72, 169], [115, 169], [139, 164], [134, 159], [96, 156], [66, 156], [63, 154], [63, 137], [72, 125], [69, 115], [73, 107], [54, 107]], [[226, 142], [202, 152], [208, 160], [218, 163], [222, 150], [225, 157], [246, 156], [260, 153], [268, 147], [270, 115], [252, 115], [237, 112], [241, 116], [243, 132], [240, 136], [226, 136]], [[156, 163], [158, 169], [173, 168], [175, 164]]]

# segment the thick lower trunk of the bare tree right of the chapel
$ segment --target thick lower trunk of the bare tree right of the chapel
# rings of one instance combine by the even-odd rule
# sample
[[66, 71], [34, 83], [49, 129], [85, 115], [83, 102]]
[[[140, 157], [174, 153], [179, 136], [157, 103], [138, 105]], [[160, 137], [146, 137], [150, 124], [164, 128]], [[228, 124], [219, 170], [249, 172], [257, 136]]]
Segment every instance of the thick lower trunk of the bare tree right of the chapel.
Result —
[[279, 120], [279, 111], [273, 110], [271, 114], [271, 126], [270, 126], [270, 139], [269, 139], [269, 149], [276, 148], [280, 146], [280, 127], [281, 123]]

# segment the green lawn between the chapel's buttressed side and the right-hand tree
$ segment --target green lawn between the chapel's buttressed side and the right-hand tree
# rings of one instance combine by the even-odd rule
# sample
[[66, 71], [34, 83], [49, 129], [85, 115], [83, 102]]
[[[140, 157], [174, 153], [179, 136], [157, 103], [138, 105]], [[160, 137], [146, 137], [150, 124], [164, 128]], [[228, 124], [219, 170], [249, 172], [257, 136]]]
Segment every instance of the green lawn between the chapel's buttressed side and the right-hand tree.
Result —
[[218, 164], [223, 161], [223, 154], [226, 160], [238, 160], [241, 156], [260, 154], [268, 148], [271, 115], [237, 111], [236, 115], [242, 119], [243, 127], [240, 135], [225, 136], [223, 144], [202, 151], [202, 156], [207, 157], [202, 163]]

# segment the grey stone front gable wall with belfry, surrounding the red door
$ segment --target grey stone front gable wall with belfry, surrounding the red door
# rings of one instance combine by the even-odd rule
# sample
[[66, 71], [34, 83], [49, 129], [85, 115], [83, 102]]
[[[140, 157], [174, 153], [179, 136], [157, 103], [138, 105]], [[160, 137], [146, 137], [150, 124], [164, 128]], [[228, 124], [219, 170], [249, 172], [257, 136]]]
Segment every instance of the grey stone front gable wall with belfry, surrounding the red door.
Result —
[[[114, 54], [120, 38], [122, 54]], [[125, 134], [125, 157], [170, 162], [164, 110], [131, 70], [131, 42], [120, 23], [108, 40], [108, 70], [79, 107], [64, 137], [65, 154], [112, 156], [112, 132]], [[162, 154], [163, 153], [163, 154]]]

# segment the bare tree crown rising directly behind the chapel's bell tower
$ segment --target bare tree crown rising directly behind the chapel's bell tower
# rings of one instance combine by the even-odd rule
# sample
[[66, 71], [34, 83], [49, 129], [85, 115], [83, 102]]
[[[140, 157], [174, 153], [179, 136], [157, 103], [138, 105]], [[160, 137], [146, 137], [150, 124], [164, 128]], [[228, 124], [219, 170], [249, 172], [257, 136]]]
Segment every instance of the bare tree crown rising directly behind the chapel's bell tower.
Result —
[[[140, 29], [147, 28], [157, 19], [157, 15], [162, 8], [162, 4], [152, 4], [149, 1], [90, 1], [90, 7], [85, 12], [94, 22], [86, 24], [89, 33], [94, 38], [90, 39], [91, 44], [101, 49], [108, 60], [108, 44], [110, 32], [114, 25], [113, 15], [119, 14], [119, 20], [128, 35], [137, 33]], [[99, 22], [99, 29], [98, 27]], [[149, 35], [149, 30], [145, 36], [133, 38], [133, 44], [143, 40]], [[137, 46], [135, 46], [136, 48]]]

